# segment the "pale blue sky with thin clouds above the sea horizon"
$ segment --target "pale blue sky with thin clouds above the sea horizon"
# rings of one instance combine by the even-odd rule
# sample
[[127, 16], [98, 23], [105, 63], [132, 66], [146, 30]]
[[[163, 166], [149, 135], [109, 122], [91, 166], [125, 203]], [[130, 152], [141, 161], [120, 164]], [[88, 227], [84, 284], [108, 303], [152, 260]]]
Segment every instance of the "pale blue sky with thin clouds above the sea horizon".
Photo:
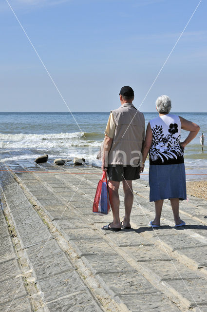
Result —
[[[123, 85], [139, 107], [199, 0], [9, 0], [73, 112], [108, 112]], [[203, 0], [140, 108], [207, 112]], [[66, 112], [6, 0], [0, 3], [2, 112]]]

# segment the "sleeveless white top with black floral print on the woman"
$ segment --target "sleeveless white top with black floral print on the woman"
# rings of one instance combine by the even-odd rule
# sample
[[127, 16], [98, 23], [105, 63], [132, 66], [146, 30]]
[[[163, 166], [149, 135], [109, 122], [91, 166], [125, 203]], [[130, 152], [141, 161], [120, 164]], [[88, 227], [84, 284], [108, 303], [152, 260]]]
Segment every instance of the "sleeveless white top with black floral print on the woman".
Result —
[[150, 120], [152, 143], [151, 165], [172, 165], [184, 162], [180, 145], [181, 122], [176, 115], [167, 114]]

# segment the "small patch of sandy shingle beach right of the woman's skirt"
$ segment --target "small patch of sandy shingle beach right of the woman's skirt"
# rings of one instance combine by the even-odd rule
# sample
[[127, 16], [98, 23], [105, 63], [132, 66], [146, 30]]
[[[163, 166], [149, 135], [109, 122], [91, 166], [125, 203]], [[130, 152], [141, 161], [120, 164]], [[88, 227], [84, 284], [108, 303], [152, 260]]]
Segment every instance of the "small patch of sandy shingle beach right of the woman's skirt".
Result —
[[207, 200], [207, 181], [189, 181], [187, 185], [187, 194]]

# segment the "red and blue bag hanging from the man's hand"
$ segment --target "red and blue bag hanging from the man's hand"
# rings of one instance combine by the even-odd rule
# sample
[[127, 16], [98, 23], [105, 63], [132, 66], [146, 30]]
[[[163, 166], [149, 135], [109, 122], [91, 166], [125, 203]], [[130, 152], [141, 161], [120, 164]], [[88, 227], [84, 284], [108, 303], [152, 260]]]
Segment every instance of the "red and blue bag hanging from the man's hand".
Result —
[[95, 193], [93, 213], [98, 215], [108, 215], [111, 206], [109, 201], [109, 190], [107, 182], [107, 174], [103, 171], [101, 180], [98, 182], [98, 186]]

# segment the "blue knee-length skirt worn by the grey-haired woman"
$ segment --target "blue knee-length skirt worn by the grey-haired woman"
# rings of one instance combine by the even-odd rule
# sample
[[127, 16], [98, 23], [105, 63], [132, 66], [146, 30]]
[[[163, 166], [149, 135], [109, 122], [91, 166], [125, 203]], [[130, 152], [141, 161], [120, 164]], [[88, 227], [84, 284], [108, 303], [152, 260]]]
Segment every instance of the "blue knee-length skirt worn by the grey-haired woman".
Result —
[[150, 201], [167, 198], [187, 199], [184, 163], [150, 165]]

